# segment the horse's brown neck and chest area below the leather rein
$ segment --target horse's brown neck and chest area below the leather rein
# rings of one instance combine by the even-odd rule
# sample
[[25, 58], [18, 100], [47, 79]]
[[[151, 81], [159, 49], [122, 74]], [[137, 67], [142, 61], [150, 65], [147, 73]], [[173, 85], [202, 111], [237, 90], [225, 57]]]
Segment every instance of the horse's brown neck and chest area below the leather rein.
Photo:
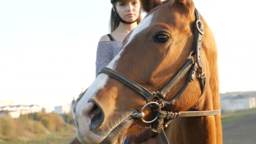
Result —
[[222, 144], [220, 116], [182, 117], [165, 130], [171, 144]]

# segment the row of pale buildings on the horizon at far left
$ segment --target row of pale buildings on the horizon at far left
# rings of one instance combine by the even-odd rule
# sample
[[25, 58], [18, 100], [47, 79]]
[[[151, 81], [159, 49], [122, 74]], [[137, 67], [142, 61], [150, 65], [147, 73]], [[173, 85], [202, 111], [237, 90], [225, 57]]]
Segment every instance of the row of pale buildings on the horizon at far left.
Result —
[[12, 118], [18, 118], [20, 115], [41, 112], [42, 107], [33, 105], [9, 105], [0, 107], [0, 116], [9, 114]]

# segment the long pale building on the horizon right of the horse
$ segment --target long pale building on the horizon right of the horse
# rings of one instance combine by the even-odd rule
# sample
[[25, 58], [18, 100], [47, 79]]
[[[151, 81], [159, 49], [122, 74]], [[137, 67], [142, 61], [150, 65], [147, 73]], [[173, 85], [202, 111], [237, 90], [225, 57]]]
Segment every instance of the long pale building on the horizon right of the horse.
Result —
[[254, 94], [237, 94], [221, 96], [222, 111], [237, 111], [242, 109], [256, 108], [256, 95]]

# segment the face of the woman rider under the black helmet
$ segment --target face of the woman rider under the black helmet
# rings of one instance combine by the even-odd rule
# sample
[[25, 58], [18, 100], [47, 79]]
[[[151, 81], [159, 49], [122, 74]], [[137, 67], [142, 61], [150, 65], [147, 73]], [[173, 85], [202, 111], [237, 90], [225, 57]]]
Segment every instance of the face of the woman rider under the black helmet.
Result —
[[121, 19], [127, 22], [132, 22], [138, 19], [140, 14], [139, 0], [118, 0], [116, 3], [116, 10]]

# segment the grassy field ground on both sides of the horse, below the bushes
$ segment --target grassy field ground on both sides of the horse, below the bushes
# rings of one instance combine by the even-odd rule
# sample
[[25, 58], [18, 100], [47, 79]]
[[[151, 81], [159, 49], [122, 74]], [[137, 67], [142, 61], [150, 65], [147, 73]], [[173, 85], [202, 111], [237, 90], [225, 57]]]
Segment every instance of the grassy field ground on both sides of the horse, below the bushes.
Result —
[[[256, 109], [223, 113], [223, 144], [255, 144], [256, 141]], [[0, 144], [68, 144], [76, 135], [74, 125], [64, 132], [44, 135], [24, 136], [23, 141], [4, 141], [0, 136]], [[21, 138], [22, 139], [22, 138]]]

